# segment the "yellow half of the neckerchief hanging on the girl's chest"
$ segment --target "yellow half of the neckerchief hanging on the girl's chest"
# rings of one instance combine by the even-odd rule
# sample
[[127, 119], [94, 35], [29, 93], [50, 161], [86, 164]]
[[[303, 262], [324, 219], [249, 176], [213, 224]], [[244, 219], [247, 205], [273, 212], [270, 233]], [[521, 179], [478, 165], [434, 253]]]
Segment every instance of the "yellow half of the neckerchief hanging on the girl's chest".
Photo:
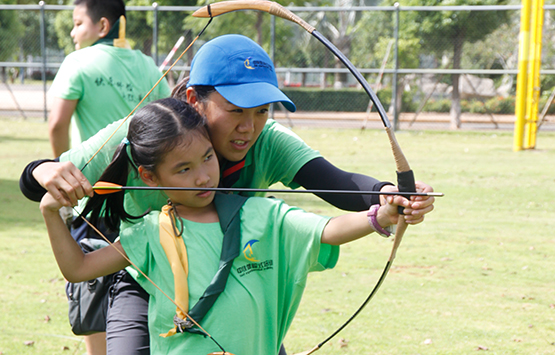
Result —
[[[162, 212], [158, 217], [160, 225], [160, 244], [166, 252], [166, 257], [170, 263], [173, 272], [173, 282], [175, 288], [175, 302], [182, 307], [185, 312], [189, 312], [189, 286], [187, 284], [187, 276], [189, 275], [189, 262], [187, 259], [187, 248], [181, 236], [177, 236], [169, 215], [171, 206], [162, 207]], [[178, 223], [176, 221], [176, 223]], [[180, 307], [176, 307], [177, 316], [186, 319], [185, 314]], [[166, 334], [160, 334], [161, 337], [169, 337], [177, 333], [177, 326]]]

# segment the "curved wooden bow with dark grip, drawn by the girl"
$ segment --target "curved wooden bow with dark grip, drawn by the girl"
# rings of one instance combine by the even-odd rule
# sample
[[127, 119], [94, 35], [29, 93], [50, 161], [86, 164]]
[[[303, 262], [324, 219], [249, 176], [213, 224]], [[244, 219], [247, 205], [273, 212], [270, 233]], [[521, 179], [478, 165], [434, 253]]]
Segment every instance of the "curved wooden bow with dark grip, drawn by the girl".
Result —
[[[397, 139], [395, 137], [395, 133], [393, 132], [393, 129], [392, 129], [392, 126], [391, 126], [391, 122], [387, 118], [387, 114], [386, 114], [380, 100], [378, 99], [378, 96], [374, 93], [374, 91], [372, 91], [372, 89], [370, 88], [370, 84], [368, 84], [366, 79], [364, 79], [362, 74], [349, 61], [349, 59], [339, 49], [337, 49], [337, 47], [335, 47], [335, 45], [333, 45], [333, 43], [331, 43], [327, 38], [325, 38], [322, 34], [320, 34], [313, 26], [311, 26], [310, 24], [305, 22], [303, 19], [301, 19], [300, 17], [298, 17], [297, 15], [295, 15], [294, 13], [289, 11], [288, 9], [284, 8], [280, 4], [278, 4], [276, 2], [273, 2], [273, 1], [265, 1], [265, 0], [222, 1], [222, 2], [213, 3], [213, 4], [210, 4], [206, 7], [200, 8], [199, 10], [197, 10], [193, 13], [193, 16], [212, 18], [214, 16], [223, 15], [225, 13], [232, 12], [232, 11], [238, 11], [238, 10], [264, 11], [264, 12], [268, 12], [268, 13], [274, 15], [274, 16], [278, 16], [278, 17], [284, 18], [286, 20], [289, 20], [291, 22], [294, 22], [294, 23], [298, 24], [299, 26], [301, 26], [302, 28], [304, 28], [307, 32], [312, 34], [314, 37], [316, 37], [339, 60], [341, 60], [341, 62], [355, 76], [355, 78], [362, 85], [362, 87], [364, 88], [366, 93], [370, 96], [370, 99], [374, 103], [374, 106], [376, 106], [376, 109], [377, 109], [377, 111], [380, 115], [380, 118], [381, 118], [382, 123], [383, 123], [384, 128], [385, 128], [385, 131], [386, 131], [387, 136], [389, 138], [389, 143], [391, 145], [391, 150], [393, 152], [393, 156], [395, 158], [395, 164], [396, 164], [396, 167], [397, 167], [397, 185], [399, 187], [399, 191], [400, 192], [416, 192], [416, 186], [415, 186], [415, 182], [414, 182], [414, 174], [413, 174], [412, 170], [410, 169], [409, 163], [408, 163], [407, 159], [405, 158], [405, 155], [403, 154], [403, 152], [401, 150], [401, 147], [399, 146], [399, 143], [397, 142]], [[341, 330], [343, 330], [362, 311], [362, 309], [366, 306], [366, 304], [368, 304], [370, 299], [372, 299], [372, 297], [376, 294], [379, 287], [383, 283], [385, 277], [387, 276], [387, 273], [389, 272], [389, 269], [391, 268], [393, 260], [395, 259], [397, 249], [399, 248], [399, 245], [401, 244], [401, 240], [403, 238], [403, 235], [405, 234], [405, 231], [407, 229], [407, 223], [405, 222], [405, 219], [402, 215], [402, 210], [403, 210], [403, 207], [399, 207], [400, 215], [399, 215], [399, 220], [397, 222], [397, 230], [396, 230], [396, 233], [395, 233], [395, 240], [393, 242], [393, 247], [392, 247], [392, 250], [391, 250], [391, 254], [390, 254], [389, 259], [386, 263], [386, 266], [385, 266], [385, 268], [382, 272], [382, 275], [380, 276], [378, 282], [376, 283], [376, 285], [374, 286], [374, 288], [370, 292], [370, 295], [362, 303], [362, 305], [357, 309], [357, 311], [341, 327], [339, 327], [335, 332], [333, 332], [328, 338], [326, 338], [324, 341], [320, 342], [318, 345], [316, 345], [311, 350], [305, 351], [305, 352], [303, 352], [301, 354], [298, 354], [298, 355], [312, 354], [316, 350], [320, 349], [322, 347], [322, 345], [327, 343], [335, 335], [337, 335]]]

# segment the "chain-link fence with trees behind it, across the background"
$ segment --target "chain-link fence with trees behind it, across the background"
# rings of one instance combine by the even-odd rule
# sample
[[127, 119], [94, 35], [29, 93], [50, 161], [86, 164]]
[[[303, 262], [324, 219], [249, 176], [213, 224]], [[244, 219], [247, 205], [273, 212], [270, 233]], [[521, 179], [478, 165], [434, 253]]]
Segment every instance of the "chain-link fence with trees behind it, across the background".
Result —
[[[367, 2], [368, 3], [368, 2]], [[510, 128], [514, 121], [520, 6], [288, 7], [330, 39], [366, 77], [400, 128], [449, 127], [459, 102], [462, 127]], [[0, 5], [0, 115], [46, 119], [46, 94], [65, 55], [72, 6]], [[206, 24], [196, 7], [127, 7], [127, 37], [134, 49], [161, 65], [184, 37], [177, 57]], [[542, 129], [553, 124], [555, 6], [545, 6]], [[187, 76], [196, 50], [225, 33], [253, 38], [270, 53], [282, 90], [298, 112], [275, 107], [289, 124], [379, 126], [375, 108], [346, 68], [301, 27], [254, 11], [217, 17], [176, 64], [170, 85]], [[175, 60], [175, 57], [173, 60]], [[170, 61], [165, 68], [168, 68]], [[457, 88], [458, 90], [453, 88]], [[458, 97], [458, 100], [454, 98]], [[393, 98], [397, 105], [392, 105]], [[543, 112], [542, 112], [543, 114]], [[541, 117], [540, 117], [541, 118]]]

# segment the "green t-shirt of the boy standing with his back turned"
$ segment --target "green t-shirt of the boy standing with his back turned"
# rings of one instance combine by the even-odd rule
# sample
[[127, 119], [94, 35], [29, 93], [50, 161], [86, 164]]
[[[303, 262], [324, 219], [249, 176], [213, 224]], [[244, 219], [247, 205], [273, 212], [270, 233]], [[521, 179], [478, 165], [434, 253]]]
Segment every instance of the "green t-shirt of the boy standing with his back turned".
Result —
[[[154, 60], [138, 50], [96, 44], [69, 54], [49, 95], [79, 100], [72, 116], [72, 147], [127, 116], [161, 76]], [[170, 94], [164, 79], [143, 105]]]

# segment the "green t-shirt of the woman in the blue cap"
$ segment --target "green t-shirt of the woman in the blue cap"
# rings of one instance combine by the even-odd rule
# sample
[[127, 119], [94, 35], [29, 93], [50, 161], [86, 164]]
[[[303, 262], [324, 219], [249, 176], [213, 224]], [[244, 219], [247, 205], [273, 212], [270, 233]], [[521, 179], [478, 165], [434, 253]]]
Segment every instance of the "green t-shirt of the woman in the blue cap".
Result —
[[[91, 184], [98, 181], [112, 160], [116, 147], [127, 135], [128, 122], [125, 122], [117, 130], [108, 144], [83, 170], [83, 174]], [[71, 161], [81, 169], [120, 123], [121, 121], [112, 123], [79, 147], [65, 152], [60, 157], [60, 161]], [[293, 182], [293, 178], [303, 165], [317, 157], [320, 157], [320, 154], [310, 148], [295, 133], [269, 119], [258, 140], [247, 153], [245, 167], [241, 169], [239, 180], [233, 187], [267, 188], [274, 183], [281, 182], [285, 186], [298, 188], [299, 186]], [[130, 174], [127, 186], [145, 186], [145, 184], [136, 174]], [[149, 208], [160, 210], [166, 202], [167, 197], [160, 191], [143, 190], [125, 193], [126, 211], [133, 215], [140, 215]]]

